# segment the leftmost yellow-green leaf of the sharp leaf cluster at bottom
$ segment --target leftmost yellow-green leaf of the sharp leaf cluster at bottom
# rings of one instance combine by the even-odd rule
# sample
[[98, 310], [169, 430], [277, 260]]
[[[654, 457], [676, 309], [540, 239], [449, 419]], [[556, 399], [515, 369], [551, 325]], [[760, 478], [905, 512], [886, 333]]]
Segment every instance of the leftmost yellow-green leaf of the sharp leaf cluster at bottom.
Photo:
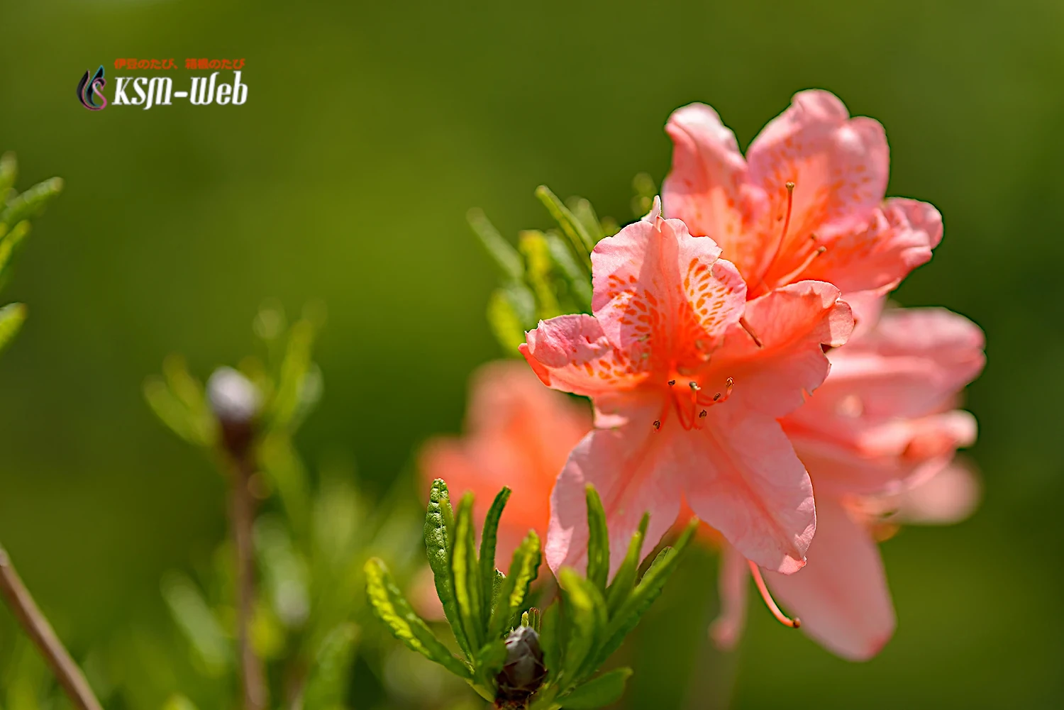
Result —
[[384, 562], [371, 558], [366, 562], [366, 592], [373, 613], [390, 629], [392, 634], [430, 661], [462, 678], [471, 677], [469, 667], [455, 658], [429, 627], [414, 613], [399, 588], [392, 580]]

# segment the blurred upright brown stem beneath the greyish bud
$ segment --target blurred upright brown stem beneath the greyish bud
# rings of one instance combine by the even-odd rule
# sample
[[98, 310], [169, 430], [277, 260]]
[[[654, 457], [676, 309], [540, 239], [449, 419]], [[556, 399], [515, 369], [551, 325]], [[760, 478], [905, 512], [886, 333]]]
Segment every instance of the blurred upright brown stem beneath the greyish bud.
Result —
[[250, 634], [255, 601], [255, 566], [251, 542], [254, 499], [249, 488], [252, 473], [252, 456], [247, 451], [233, 466], [230, 500], [233, 543], [236, 548], [236, 642], [240, 654], [244, 710], [265, 710], [265, 674]]

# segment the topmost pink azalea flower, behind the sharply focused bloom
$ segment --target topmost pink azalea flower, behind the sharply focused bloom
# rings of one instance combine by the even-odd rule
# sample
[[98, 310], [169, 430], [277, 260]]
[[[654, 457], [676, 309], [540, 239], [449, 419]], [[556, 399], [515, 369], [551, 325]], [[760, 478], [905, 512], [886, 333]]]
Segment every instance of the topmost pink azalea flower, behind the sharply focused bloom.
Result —
[[942, 217], [891, 198], [883, 127], [850, 118], [824, 90], [801, 92], [753, 139], [746, 159], [717, 113], [678, 109], [665, 131], [672, 171], [665, 214], [712, 237], [754, 297], [798, 279], [884, 294], [931, 258]]

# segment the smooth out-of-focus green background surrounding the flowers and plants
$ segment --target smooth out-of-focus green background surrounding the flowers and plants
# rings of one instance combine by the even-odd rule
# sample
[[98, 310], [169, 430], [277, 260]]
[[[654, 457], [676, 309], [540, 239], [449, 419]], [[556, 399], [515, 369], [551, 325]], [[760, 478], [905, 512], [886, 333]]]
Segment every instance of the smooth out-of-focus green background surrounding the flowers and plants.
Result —
[[[985, 500], [884, 545], [899, 627], [866, 664], [757, 606], [737, 656], [704, 650], [714, 563], [692, 556], [629, 703], [679, 707], [694, 673], [693, 708], [1064, 705], [1064, 4], [3, 0], [0, 28], [0, 149], [20, 186], [67, 185], [3, 293], [31, 318], [0, 362], [0, 540], [76, 651], [168, 628], [161, 575], [223, 535], [220, 477], [142, 399], [165, 354], [206, 374], [249, 350], [265, 297], [325, 300], [299, 443], [383, 491], [499, 354], [467, 208], [546, 227], [547, 183], [625, 221], [632, 176], [668, 168], [672, 109], [711, 103], [745, 146], [818, 86], [886, 127], [888, 194], [944, 214], [897, 300], [987, 332]], [[126, 56], [246, 57], [248, 102], [81, 108], [81, 73]]]

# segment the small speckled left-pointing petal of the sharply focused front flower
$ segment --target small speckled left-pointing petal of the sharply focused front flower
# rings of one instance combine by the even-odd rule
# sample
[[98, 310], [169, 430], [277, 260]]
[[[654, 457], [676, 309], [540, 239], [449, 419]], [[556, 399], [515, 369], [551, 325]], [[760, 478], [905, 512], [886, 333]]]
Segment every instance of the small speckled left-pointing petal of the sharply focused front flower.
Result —
[[541, 320], [520, 352], [549, 387], [585, 397], [631, 389], [646, 379], [646, 363], [628, 359], [585, 313]]

